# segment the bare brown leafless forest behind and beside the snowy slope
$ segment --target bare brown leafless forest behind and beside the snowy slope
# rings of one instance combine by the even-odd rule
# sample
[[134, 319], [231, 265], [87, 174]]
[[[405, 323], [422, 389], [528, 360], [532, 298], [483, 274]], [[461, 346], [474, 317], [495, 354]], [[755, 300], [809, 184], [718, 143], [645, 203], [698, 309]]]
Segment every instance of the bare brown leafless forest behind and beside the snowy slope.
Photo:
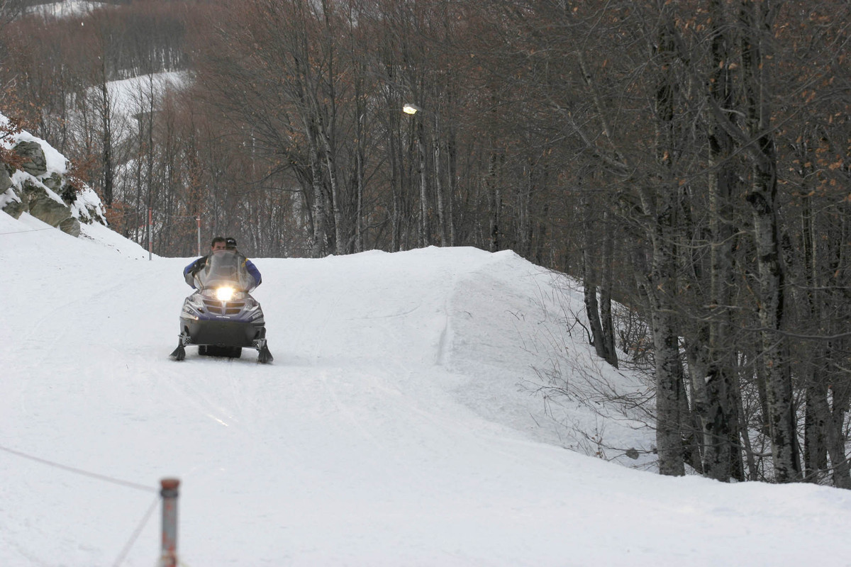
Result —
[[[851, 488], [845, 0], [13, 4], [0, 107], [115, 230], [146, 243], [150, 209], [166, 256], [197, 217], [261, 257], [514, 250], [654, 375], [661, 473]], [[164, 71], [184, 86], [155, 94]]]

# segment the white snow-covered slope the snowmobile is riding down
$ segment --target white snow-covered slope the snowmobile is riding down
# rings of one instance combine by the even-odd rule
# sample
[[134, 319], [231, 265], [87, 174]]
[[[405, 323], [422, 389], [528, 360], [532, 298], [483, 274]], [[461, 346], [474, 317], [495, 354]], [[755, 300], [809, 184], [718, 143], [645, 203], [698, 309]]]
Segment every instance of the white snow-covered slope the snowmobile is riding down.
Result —
[[557, 282], [511, 252], [254, 258], [275, 362], [175, 362], [190, 258], [83, 230], [0, 213], [4, 567], [150, 567], [171, 476], [190, 566], [851, 564], [847, 491], [563, 448], [557, 421], [640, 451], [653, 434], [544, 411], [553, 360], [637, 385], [563, 334], [580, 304], [547, 303]]

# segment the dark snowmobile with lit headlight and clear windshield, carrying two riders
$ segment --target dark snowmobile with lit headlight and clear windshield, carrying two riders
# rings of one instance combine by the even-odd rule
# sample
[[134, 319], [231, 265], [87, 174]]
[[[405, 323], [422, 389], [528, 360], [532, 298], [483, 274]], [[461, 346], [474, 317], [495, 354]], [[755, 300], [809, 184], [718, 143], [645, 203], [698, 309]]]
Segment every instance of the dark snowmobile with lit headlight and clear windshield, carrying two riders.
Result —
[[263, 309], [249, 294], [257, 283], [245, 262], [236, 250], [216, 250], [203, 269], [186, 274], [186, 283], [197, 291], [183, 302], [178, 345], [170, 354], [174, 360], [184, 360], [190, 344], [197, 344], [202, 355], [239, 358], [243, 348], [253, 348], [258, 362], [273, 360]]

